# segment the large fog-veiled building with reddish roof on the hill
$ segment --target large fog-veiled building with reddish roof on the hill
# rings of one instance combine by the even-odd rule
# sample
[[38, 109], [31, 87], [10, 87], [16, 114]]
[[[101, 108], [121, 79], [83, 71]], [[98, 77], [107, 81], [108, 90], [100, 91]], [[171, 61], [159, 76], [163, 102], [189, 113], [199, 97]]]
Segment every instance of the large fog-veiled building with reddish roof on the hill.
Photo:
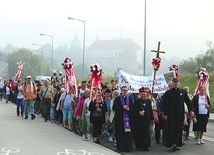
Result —
[[138, 74], [142, 64], [142, 50], [132, 39], [97, 40], [85, 54], [86, 65], [100, 64], [105, 75], [113, 75], [117, 68]]

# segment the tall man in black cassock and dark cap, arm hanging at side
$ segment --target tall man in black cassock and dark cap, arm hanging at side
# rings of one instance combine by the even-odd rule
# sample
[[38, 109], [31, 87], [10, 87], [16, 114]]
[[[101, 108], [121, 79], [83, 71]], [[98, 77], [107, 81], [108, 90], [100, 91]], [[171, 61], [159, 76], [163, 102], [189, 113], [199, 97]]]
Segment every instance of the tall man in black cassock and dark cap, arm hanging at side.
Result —
[[184, 89], [179, 88], [177, 78], [172, 80], [173, 88], [166, 91], [163, 97], [164, 119], [167, 120], [168, 133], [166, 147], [180, 150], [182, 146], [182, 126], [184, 122], [184, 102], [191, 116], [194, 116], [193, 106]]

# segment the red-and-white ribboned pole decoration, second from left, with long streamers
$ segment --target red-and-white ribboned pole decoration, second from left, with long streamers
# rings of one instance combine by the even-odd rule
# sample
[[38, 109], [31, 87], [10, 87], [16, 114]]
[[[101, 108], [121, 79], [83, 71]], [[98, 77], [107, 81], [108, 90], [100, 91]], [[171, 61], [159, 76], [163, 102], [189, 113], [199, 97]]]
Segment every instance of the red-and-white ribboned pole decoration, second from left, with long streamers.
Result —
[[74, 74], [73, 62], [70, 58], [66, 57], [62, 63], [63, 69], [65, 70], [65, 88], [68, 92], [72, 86], [75, 86], [75, 94], [78, 94], [77, 81]]

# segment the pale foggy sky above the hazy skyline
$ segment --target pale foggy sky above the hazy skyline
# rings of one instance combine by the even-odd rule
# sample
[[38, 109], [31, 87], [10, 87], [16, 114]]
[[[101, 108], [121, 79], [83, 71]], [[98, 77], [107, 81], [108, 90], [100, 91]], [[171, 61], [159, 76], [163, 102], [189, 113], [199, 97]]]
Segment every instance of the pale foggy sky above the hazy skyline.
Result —
[[[75, 34], [86, 47], [101, 40], [132, 38], [143, 47], [144, 0], [0, 0], [0, 47], [38, 49], [32, 43], [70, 45]], [[213, 41], [213, 0], [147, 0], [147, 49], [161, 50], [167, 58], [187, 58], [208, 49]]]

